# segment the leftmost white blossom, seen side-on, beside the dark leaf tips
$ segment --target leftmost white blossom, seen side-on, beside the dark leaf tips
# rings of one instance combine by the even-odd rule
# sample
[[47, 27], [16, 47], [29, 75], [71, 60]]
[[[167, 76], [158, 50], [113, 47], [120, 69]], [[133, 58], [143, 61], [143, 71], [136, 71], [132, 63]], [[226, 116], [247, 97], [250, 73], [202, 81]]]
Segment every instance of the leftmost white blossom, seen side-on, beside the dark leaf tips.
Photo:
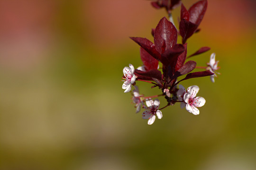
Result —
[[[136, 77], [134, 75], [134, 67], [132, 64], [129, 64], [129, 68], [125, 67], [123, 69], [123, 73], [126, 79], [124, 84], [122, 85], [122, 88], [125, 89], [125, 93], [129, 92], [131, 90], [131, 85], [135, 82]], [[123, 80], [124, 81], [124, 80]]]

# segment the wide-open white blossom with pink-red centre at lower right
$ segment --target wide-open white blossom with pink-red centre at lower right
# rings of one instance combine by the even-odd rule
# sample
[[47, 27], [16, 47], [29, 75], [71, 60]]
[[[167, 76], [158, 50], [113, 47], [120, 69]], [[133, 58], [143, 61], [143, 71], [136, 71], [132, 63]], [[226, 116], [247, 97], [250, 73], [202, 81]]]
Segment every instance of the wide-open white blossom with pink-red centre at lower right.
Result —
[[202, 107], [205, 104], [203, 97], [195, 97], [199, 91], [197, 85], [192, 85], [187, 89], [187, 93], [184, 94], [183, 99], [186, 104], [186, 110], [193, 113], [194, 115], [199, 114], [197, 107]]

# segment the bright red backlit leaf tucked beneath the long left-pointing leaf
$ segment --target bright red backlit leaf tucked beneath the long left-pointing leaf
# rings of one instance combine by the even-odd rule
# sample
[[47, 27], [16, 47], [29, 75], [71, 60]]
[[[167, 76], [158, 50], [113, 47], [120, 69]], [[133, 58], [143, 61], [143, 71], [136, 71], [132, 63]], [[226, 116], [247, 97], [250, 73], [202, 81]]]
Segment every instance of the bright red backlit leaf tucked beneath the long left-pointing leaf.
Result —
[[146, 70], [157, 69], [158, 68], [158, 60], [152, 57], [146, 50], [140, 47], [140, 58], [146, 67]]

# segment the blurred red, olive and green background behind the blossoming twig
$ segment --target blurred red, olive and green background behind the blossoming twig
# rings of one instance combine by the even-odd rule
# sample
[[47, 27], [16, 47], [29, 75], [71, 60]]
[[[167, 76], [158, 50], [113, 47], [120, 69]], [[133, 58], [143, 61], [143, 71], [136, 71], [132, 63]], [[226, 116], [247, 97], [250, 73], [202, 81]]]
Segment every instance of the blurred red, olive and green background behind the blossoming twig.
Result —
[[200, 86], [199, 116], [175, 104], [149, 126], [120, 80], [129, 63], [142, 64], [128, 37], [153, 40], [164, 9], [147, 0], [0, 0], [0, 169], [256, 170], [255, 7], [209, 0], [188, 53], [210, 46], [193, 59], [203, 66], [216, 52], [221, 75], [183, 82]]

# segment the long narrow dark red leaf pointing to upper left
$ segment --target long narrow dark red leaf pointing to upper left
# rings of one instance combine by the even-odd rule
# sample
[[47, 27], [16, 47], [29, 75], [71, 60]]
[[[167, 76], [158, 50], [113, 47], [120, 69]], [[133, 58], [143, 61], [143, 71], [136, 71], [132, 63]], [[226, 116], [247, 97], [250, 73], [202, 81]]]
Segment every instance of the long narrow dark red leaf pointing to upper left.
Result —
[[161, 55], [155, 50], [155, 44], [146, 38], [130, 37], [133, 41], [139, 44], [144, 50], [146, 50], [152, 57], [157, 60], [161, 59]]

